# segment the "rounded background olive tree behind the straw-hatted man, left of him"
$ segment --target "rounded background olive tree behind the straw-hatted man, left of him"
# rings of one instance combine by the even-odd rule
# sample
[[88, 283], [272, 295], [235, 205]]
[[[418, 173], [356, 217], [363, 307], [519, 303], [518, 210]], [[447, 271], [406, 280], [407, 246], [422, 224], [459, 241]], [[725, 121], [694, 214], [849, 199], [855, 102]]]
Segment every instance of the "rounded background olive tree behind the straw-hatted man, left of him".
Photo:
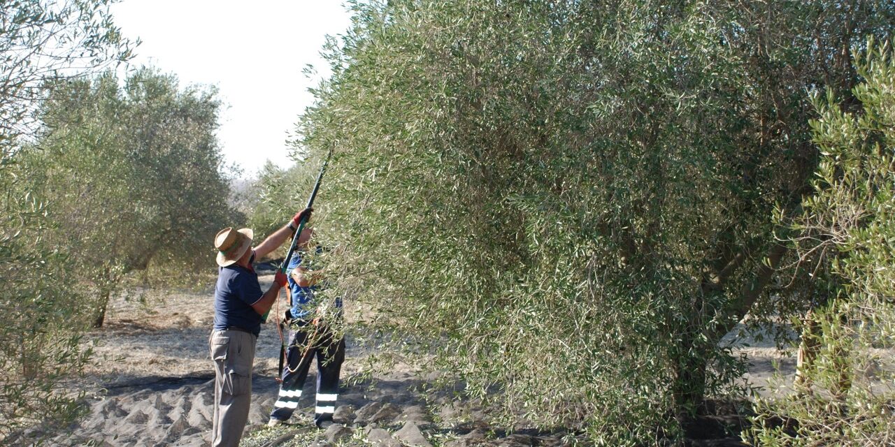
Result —
[[215, 232], [242, 219], [226, 203], [215, 94], [148, 68], [124, 88], [111, 73], [52, 87], [47, 132], [22, 158], [30, 188], [55, 204], [50, 218], [72, 230], [46, 237], [69, 248], [95, 293], [95, 326], [124, 275], [207, 269]]

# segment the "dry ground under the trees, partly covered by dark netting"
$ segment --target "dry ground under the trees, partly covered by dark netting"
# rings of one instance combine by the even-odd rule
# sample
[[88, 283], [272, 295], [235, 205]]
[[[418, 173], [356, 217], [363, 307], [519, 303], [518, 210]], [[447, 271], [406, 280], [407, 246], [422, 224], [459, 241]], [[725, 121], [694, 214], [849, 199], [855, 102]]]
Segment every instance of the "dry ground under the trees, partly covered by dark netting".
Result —
[[[260, 279], [266, 289], [272, 275]], [[90, 333], [90, 339], [97, 343], [97, 361], [85, 380], [90, 389], [84, 403], [89, 407], [89, 416], [72, 427], [70, 433], [56, 438], [55, 444], [209, 444], [214, 400], [214, 373], [208, 349], [213, 313], [211, 293], [175, 292], [162, 302], [152, 302], [150, 309], [134, 300], [117, 299], [111, 303], [105, 327]], [[277, 393], [279, 346], [277, 326], [262, 326], [244, 446], [363, 445], [371, 440], [377, 445], [395, 446], [567, 444], [566, 434], [524, 430], [506, 434], [490, 430], [483, 426], [484, 417], [476, 414], [475, 409], [458, 408], [449, 396], [423, 393], [431, 377], [420, 377], [407, 365], [352, 380], [358, 377], [360, 359], [366, 354], [350, 339], [343, 368], [343, 378], [348, 380], [338, 402], [338, 429], [293, 433], [311, 425], [312, 409], [307, 407], [296, 413], [298, 417], [293, 417], [291, 425], [266, 428]], [[775, 362], [785, 374], [793, 370], [793, 358], [771, 346], [751, 346], [743, 351], [752, 359], [747, 378], [754, 384], [767, 384]], [[312, 368], [304, 395], [313, 396], [315, 381]], [[313, 400], [309, 398], [304, 403], [312, 406]], [[277, 437], [283, 439], [274, 443]]]

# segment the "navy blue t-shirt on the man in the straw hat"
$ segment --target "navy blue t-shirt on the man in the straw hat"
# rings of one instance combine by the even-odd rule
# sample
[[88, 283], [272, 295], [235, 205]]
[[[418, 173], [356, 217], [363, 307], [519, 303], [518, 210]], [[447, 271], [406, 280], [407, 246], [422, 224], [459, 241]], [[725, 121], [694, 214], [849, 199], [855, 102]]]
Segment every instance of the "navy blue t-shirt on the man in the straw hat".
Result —
[[[249, 264], [255, 261], [251, 254]], [[215, 330], [223, 331], [229, 326], [240, 327], [258, 335], [261, 332], [261, 316], [252, 304], [258, 302], [264, 292], [258, 283], [258, 274], [235, 264], [220, 267], [215, 287]]]

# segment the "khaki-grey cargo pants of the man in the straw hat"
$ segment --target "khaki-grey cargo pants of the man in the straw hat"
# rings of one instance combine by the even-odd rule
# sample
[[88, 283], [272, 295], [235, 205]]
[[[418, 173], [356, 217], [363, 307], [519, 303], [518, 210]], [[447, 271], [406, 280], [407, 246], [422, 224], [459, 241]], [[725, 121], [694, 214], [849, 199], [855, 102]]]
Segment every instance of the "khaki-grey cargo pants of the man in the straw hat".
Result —
[[258, 337], [242, 331], [212, 331], [211, 359], [215, 362], [215, 414], [211, 445], [239, 445], [251, 405], [251, 365]]

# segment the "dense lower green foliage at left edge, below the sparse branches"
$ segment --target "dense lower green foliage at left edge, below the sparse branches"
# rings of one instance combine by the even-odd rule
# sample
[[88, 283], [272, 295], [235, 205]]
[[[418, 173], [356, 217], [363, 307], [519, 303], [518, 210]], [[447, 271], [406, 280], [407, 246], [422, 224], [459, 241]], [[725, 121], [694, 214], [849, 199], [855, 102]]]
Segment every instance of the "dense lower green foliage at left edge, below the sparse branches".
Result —
[[[75, 287], [65, 250], [48, 245], [44, 234], [58, 231], [47, 220], [47, 205], [21, 192], [18, 166], [0, 168], [0, 442], [25, 441], [22, 430], [48, 432], [80, 414], [72, 389], [90, 358], [81, 346], [87, 296]], [[45, 432], [46, 433], [46, 432]]]

